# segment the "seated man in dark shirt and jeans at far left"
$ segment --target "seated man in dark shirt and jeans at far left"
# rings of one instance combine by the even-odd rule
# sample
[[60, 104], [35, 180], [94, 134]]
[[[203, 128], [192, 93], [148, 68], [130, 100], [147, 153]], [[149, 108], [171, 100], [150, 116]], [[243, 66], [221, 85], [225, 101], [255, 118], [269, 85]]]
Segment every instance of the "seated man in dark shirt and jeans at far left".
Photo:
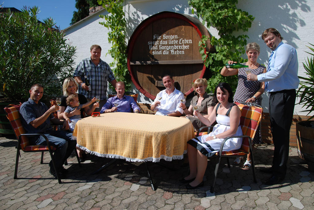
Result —
[[[69, 125], [66, 120], [63, 122], [57, 118], [54, 118], [52, 113], [59, 110], [57, 105], [48, 108], [43, 102], [39, 102], [43, 93], [44, 87], [40, 84], [35, 84], [30, 88], [30, 98], [24, 102], [20, 108], [21, 122], [28, 133], [40, 133], [44, 134], [49, 144], [57, 147], [53, 154], [53, 158], [56, 163], [56, 168], [59, 171], [60, 178], [65, 177], [66, 169], [63, 168], [63, 163], [71, 155], [76, 146], [76, 141], [72, 140], [72, 134], [63, 130], [53, 130], [50, 122], [54, 124], [63, 124], [64, 129], [68, 129]], [[42, 136], [30, 137], [30, 142], [36, 145], [46, 145], [46, 140]], [[53, 168], [52, 161], [49, 163], [50, 174], [54, 177], [56, 172]]]

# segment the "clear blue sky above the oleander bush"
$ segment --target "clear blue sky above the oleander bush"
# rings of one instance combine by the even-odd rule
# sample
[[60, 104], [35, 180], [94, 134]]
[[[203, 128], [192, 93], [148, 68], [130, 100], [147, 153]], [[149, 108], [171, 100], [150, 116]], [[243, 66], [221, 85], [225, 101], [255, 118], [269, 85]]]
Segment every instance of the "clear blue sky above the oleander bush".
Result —
[[21, 10], [24, 6], [39, 7], [41, 11], [37, 18], [42, 21], [45, 18], [52, 18], [60, 29], [66, 29], [70, 26], [75, 0], [0, 0], [2, 7], [14, 7]]

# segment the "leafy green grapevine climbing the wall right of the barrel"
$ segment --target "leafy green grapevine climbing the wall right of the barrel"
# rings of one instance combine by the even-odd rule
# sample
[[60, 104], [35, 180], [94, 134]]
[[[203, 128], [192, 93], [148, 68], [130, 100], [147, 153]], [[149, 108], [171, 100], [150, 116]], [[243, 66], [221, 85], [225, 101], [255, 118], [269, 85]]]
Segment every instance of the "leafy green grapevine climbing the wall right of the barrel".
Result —
[[[217, 53], [204, 52], [206, 47], [205, 41], [209, 37], [203, 36], [199, 43], [204, 64], [206, 67], [209, 67], [212, 73], [212, 77], [208, 79], [207, 89], [209, 92], [212, 92], [219, 82], [228, 82], [235, 90], [237, 86], [236, 76], [223, 77], [220, 75], [220, 70], [228, 60], [245, 61], [241, 56], [245, 53], [246, 38], [248, 36], [246, 34], [235, 34], [248, 31], [254, 17], [236, 8], [237, 3], [237, 0], [189, 1], [190, 6], [196, 10], [198, 18], [203, 19], [203, 24], [208, 28], [210, 26], [216, 28], [220, 36], [220, 38], [213, 36], [210, 39], [210, 43], [215, 46]], [[192, 13], [194, 13], [194, 9]]]

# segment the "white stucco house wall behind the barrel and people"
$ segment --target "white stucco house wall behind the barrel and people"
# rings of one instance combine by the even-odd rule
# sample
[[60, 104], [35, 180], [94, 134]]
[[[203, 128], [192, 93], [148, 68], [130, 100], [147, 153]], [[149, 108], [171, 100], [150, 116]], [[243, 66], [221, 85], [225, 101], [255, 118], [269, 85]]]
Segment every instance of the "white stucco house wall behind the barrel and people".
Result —
[[[162, 11], [171, 11], [182, 14], [192, 14], [192, 10], [188, 5], [187, 0], [126, 0], [125, 1], [125, 16], [127, 19], [127, 38], [129, 38], [144, 19]], [[255, 17], [252, 27], [248, 32], [235, 32], [236, 34], [245, 33], [249, 36], [247, 42], [257, 42], [261, 46], [261, 53], [258, 57], [258, 62], [267, 66], [268, 58], [271, 50], [264, 44], [261, 34], [267, 28], [276, 28], [284, 37], [284, 42], [292, 45], [298, 52], [299, 58], [299, 76], [305, 76], [303, 64], [309, 51], [306, 48], [308, 43], [314, 44], [314, 22], [313, 9], [314, 0], [264, 0], [264, 1], [247, 1], [242, 0], [238, 3], [238, 8], [247, 11]], [[101, 14], [106, 14], [103, 10]], [[85, 18], [83, 21], [74, 24], [65, 29], [69, 42], [77, 47], [76, 63], [81, 59], [89, 57], [89, 47], [93, 44], [99, 44], [102, 47], [101, 58], [107, 63], [112, 62], [110, 55], [106, 56], [106, 52], [111, 45], [108, 43], [107, 32], [104, 26], [99, 22], [103, 21], [97, 15]], [[217, 30], [214, 28], [208, 29], [212, 36], [217, 36]], [[243, 55], [247, 58], [246, 55]], [[134, 88], [133, 92], [138, 92]], [[268, 93], [263, 94], [263, 107], [265, 112], [268, 112]], [[139, 94], [138, 102], [149, 103], [151, 100], [142, 94]], [[298, 102], [298, 99], [297, 99]], [[301, 113], [300, 105], [295, 106], [294, 114], [305, 115]]]

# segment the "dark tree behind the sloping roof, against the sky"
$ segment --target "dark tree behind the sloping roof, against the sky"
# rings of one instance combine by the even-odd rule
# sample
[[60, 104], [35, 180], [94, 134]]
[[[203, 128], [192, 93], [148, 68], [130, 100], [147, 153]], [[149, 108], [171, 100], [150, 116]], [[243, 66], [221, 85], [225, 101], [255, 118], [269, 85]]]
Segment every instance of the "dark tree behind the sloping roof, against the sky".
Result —
[[75, 0], [75, 8], [78, 11], [73, 12], [73, 17], [71, 20], [71, 25], [75, 24], [76, 22], [80, 21], [83, 18], [86, 18], [89, 15], [89, 8], [97, 7], [98, 3], [97, 0]]

